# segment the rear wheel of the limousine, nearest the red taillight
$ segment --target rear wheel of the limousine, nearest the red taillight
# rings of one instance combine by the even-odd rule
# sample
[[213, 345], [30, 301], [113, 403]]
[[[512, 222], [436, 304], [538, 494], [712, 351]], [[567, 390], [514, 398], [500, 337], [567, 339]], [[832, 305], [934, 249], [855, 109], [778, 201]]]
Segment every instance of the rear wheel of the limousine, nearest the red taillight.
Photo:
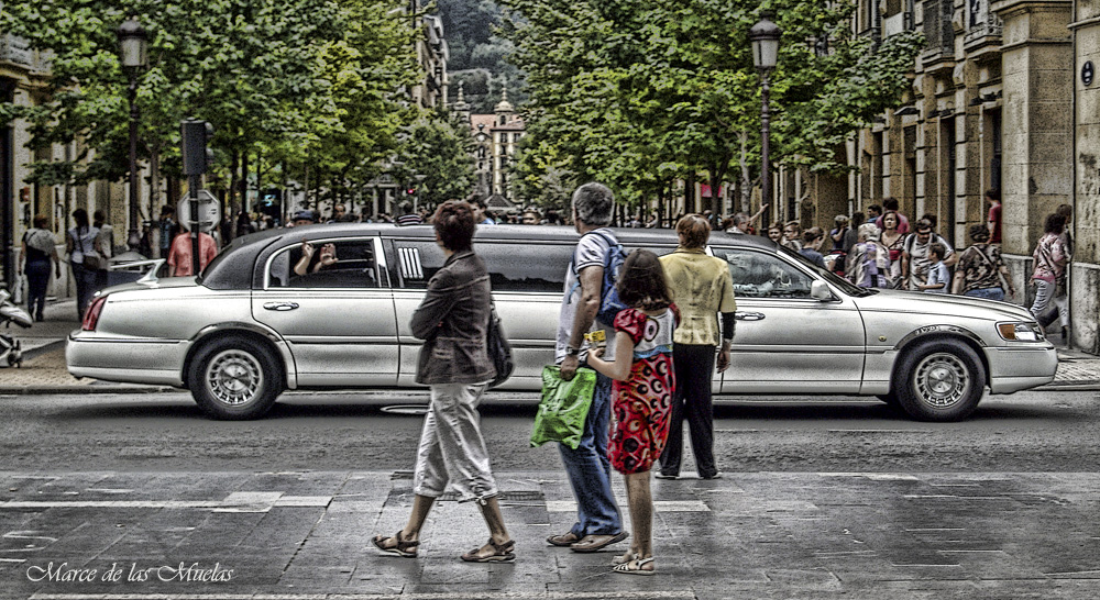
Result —
[[279, 362], [267, 345], [243, 335], [226, 335], [196, 353], [187, 387], [209, 416], [245, 421], [271, 410], [285, 386]]

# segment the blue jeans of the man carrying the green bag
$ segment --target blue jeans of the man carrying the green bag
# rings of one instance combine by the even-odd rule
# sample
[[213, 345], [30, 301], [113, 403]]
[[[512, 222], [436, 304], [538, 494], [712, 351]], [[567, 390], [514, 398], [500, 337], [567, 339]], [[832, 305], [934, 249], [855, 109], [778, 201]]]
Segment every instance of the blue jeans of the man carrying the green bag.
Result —
[[584, 435], [573, 449], [558, 444], [569, 484], [576, 498], [576, 523], [573, 535], [616, 534], [623, 530], [615, 497], [612, 495], [612, 466], [607, 460], [607, 422], [610, 420], [612, 380], [596, 374], [596, 391], [584, 421]]

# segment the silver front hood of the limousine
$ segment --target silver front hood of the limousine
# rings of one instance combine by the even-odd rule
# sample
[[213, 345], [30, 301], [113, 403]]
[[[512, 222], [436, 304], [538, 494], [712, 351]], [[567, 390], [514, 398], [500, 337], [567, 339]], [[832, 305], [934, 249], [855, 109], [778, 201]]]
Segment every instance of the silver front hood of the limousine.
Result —
[[856, 305], [861, 311], [903, 311], [925, 314], [952, 314], [990, 321], [1034, 321], [1027, 309], [1010, 304], [946, 293], [923, 293], [881, 289], [866, 298], [856, 298]]

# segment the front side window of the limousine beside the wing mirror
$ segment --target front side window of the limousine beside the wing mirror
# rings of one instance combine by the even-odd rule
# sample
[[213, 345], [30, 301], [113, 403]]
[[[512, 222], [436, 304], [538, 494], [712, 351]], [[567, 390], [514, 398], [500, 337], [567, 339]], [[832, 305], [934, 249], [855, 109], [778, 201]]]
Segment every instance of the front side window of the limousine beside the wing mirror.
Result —
[[729, 264], [734, 293], [746, 298], [810, 298], [813, 280], [779, 256], [743, 248], [713, 248]]

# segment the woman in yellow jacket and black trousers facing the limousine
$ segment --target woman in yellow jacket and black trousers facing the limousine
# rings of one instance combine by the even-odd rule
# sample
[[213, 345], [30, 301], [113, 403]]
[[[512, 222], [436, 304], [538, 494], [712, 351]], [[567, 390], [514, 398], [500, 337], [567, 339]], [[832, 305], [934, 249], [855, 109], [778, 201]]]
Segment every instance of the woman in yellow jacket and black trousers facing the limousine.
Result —
[[[669, 443], [661, 454], [661, 470], [657, 477], [675, 479], [680, 476], [686, 419], [698, 476], [714, 479], [719, 474], [714, 462], [711, 381], [715, 370], [722, 373], [729, 368], [737, 302], [734, 300], [729, 266], [722, 258], [707, 256], [705, 252], [711, 237], [706, 221], [697, 214], [689, 214], [676, 223], [676, 233], [680, 244], [672, 254], [661, 257], [661, 267], [672, 297], [679, 299], [682, 314], [681, 326], [675, 332], [675, 345], [672, 346], [678, 386], [672, 399]], [[722, 313], [721, 333], [718, 313]]]

